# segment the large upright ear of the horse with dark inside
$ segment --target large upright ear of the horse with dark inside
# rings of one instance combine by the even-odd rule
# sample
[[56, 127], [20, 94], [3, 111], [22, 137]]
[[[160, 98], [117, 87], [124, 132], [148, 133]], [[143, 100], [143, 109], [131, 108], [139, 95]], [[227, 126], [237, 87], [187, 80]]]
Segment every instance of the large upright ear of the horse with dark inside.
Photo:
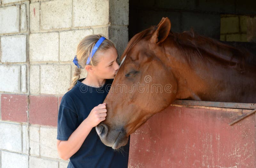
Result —
[[151, 42], [155, 44], [163, 42], [169, 35], [171, 30], [171, 21], [168, 18], [163, 17], [157, 27], [158, 28], [151, 37]]

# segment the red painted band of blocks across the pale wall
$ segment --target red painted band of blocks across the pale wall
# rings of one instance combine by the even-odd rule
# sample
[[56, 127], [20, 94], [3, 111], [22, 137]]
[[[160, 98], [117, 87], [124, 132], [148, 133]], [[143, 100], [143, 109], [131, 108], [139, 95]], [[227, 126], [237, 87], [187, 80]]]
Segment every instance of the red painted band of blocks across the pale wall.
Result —
[[1, 94], [1, 120], [57, 126], [62, 96]]

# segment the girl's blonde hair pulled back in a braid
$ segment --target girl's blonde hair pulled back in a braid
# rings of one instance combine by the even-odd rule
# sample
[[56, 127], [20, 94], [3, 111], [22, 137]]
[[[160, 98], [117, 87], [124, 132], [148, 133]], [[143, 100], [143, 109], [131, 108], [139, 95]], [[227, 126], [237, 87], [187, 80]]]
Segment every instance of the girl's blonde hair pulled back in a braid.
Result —
[[[79, 63], [79, 65], [82, 68], [85, 68], [87, 58], [90, 56], [90, 53], [92, 51], [92, 48], [96, 44], [96, 42], [102, 37], [101, 35], [89, 35], [85, 36], [77, 45], [77, 51], [76, 51], [76, 58]], [[90, 63], [88, 65], [97, 66], [99, 63], [99, 58], [97, 57], [98, 51], [104, 51], [111, 47], [115, 47], [115, 44], [108, 40], [107, 38], [100, 44], [99, 48], [93, 55], [92, 59], [90, 60]], [[71, 90], [77, 83], [79, 77], [81, 74], [81, 68], [78, 68], [76, 66], [74, 77], [72, 79], [71, 86], [68, 88], [68, 91]]]

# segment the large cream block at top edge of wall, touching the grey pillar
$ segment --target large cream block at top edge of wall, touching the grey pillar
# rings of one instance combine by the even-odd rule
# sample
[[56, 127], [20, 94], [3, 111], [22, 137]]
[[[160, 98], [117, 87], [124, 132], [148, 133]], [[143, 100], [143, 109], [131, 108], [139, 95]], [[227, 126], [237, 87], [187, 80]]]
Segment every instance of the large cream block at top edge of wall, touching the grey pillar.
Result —
[[108, 0], [74, 0], [73, 26], [99, 26], [107, 25], [109, 20]]

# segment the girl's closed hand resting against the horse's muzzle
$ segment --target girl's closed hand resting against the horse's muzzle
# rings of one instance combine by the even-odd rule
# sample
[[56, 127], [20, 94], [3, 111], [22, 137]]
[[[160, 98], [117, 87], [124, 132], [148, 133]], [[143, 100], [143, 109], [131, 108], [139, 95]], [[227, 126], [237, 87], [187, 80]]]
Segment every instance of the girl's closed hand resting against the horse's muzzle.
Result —
[[104, 121], [107, 116], [107, 109], [106, 104], [99, 104], [98, 106], [92, 108], [92, 111], [90, 112], [89, 116], [86, 118], [88, 119], [90, 125], [92, 127], [97, 126], [101, 121]]

